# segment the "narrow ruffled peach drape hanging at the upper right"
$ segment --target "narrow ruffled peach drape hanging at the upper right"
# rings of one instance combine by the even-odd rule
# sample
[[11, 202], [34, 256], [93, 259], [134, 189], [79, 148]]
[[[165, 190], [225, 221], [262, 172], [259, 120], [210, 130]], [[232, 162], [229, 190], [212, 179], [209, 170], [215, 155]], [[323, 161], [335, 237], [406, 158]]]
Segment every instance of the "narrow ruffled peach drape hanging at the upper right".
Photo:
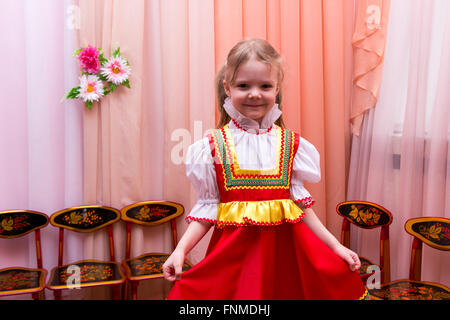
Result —
[[359, 136], [364, 113], [375, 107], [383, 70], [390, 0], [357, 0], [353, 34], [352, 133]]

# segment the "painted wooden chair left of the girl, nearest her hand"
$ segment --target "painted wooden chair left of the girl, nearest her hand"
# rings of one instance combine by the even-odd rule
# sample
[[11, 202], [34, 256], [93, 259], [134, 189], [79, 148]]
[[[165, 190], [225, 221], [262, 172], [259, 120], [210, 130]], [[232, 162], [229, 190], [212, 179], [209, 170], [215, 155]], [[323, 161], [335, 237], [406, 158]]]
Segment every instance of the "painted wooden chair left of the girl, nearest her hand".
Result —
[[[122, 220], [126, 222], [126, 252], [125, 260], [122, 262], [127, 280], [131, 284], [131, 298], [137, 299], [139, 282], [147, 279], [162, 278], [162, 265], [170, 254], [160, 252], [150, 252], [138, 257], [131, 258], [131, 226], [138, 224], [142, 226], [157, 226], [169, 223], [172, 229], [173, 248], [176, 247], [177, 225], [176, 218], [182, 215], [184, 208], [182, 205], [169, 201], [145, 201], [131, 204], [121, 210]], [[192, 267], [189, 261], [185, 261], [183, 272]], [[127, 281], [127, 283], [128, 283]], [[125, 299], [128, 298], [128, 287], [125, 286]]]

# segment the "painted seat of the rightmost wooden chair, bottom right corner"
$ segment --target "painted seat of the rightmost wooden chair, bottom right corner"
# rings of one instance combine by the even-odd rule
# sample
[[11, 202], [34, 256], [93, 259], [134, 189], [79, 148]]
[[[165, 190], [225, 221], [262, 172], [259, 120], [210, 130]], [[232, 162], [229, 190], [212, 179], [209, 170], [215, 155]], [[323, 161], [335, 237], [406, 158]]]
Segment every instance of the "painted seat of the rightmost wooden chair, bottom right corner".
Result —
[[449, 288], [424, 281], [396, 280], [369, 292], [374, 300], [450, 300]]

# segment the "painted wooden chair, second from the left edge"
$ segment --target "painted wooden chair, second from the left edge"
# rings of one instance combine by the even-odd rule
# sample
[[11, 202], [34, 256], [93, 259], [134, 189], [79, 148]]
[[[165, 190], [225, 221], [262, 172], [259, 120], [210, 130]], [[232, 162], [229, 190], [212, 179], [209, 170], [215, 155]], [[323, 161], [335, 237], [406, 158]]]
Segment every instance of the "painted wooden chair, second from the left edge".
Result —
[[[113, 286], [113, 298], [120, 299], [125, 282], [121, 265], [115, 261], [112, 224], [120, 220], [120, 211], [105, 206], [79, 206], [55, 212], [50, 223], [59, 227], [58, 266], [51, 271], [47, 288], [61, 299], [61, 290], [94, 286]], [[88, 233], [108, 229], [110, 261], [81, 260], [63, 265], [64, 230]], [[75, 277], [74, 277], [75, 276]]]

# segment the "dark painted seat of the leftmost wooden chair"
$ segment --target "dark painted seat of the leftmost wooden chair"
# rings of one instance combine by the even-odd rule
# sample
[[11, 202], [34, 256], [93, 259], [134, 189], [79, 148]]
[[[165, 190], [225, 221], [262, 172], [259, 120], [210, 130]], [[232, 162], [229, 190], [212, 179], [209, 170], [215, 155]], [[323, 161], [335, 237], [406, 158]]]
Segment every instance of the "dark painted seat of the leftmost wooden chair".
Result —
[[0, 269], [0, 296], [39, 292], [45, 287], [46, 276], [45, 269]]

